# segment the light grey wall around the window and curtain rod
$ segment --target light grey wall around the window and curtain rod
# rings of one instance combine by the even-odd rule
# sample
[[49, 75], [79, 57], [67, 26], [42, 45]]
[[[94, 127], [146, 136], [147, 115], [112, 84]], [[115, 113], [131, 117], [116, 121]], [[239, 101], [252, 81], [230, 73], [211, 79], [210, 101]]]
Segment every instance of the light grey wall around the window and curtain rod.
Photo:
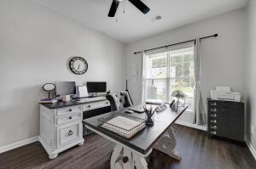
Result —
[[[210, 89], [216, 86], [230, 86], [232, 90], [241, 92], [244, 98], [246, 10], [241, 8], [129, 44], [126, 48], [126, 76], [132, 99], [138, 103], [141, 97], [140, 54], [134, 55], [133, 52], [215, 33], [219, 35], [216, 39], [202, 40], [201, 87], [205, 107]], [[131, 75], [132, 65], [137, 65], [138, 76]]]

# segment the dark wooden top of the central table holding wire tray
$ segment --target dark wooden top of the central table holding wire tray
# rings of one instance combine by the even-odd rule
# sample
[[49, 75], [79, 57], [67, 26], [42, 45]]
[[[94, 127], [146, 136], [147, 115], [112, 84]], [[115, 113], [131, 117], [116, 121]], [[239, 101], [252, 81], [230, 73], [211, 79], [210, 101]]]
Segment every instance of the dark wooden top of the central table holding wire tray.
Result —
[[110, 132], [102, 127], [98, 127], [98, 119], [99, 118], [107, 118], [110, 115], [113, 115], [113, 113], [124, 113], [125, 115], [131, 115], [136, 116], [140, 118], [144, 118], [145, 115], [143, 114], [126, 114], [124, 111], [128, 110], [128, 108], [125, 108], [124, 110], [117, 110], [112, 111], [104, 115], [97, 115], [95, 117], [91, 117], [89, 119], [85, 119], [84, 125], [87, 127], [91, 127], [97, 132], [101, 132], [103, 135], [108, 136], [109, 138], [113, 138], [117, 142], [121, 144], [125, 144], [126, 146], [130, 147], [131, 149], [135, 149], [136, 151], [142, 153], [143, 155], [146, 155], [148, 151], [153, 148], [154, 144], [158, 141], [160, 136], [162, 136], [166, 130], [172, 126], [172, 124], [177, 120], [177, 118], [183, 114], [183, 109], [178, 109], [177, 112], [172, 112], [172, 110], [167, 107], [166, 110], [156, 112], [154, 115], [154, 126], [146, 126], [141, 132], [138, 132], [137, 135], [135, 135], [131, 139], [122, 138], [119, 135]]

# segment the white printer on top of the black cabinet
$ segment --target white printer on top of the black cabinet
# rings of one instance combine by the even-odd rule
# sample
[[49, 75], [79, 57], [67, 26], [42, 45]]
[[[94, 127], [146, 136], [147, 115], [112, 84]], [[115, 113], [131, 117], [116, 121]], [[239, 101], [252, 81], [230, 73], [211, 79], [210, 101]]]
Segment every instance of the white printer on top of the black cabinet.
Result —
[[237, 92], [231, 92], [230, 87], [216, 87], [215, 90], [211, 90], [211, 99], [240, 102], [241, 94]]

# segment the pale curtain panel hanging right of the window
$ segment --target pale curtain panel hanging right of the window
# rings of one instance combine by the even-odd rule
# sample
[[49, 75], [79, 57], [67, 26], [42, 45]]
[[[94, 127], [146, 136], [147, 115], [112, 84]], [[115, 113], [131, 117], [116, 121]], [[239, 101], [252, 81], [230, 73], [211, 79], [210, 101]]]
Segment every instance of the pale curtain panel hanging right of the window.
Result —
[[195, 40], [194, 65], [195, 65], [195, 91], [194, 91], [194, 112], [192, 122], [197, 125], [206, 123], [206, 113], [201, 98], [200, 84], [200, 59], [201, 59], [201, 42], [199, 38]]

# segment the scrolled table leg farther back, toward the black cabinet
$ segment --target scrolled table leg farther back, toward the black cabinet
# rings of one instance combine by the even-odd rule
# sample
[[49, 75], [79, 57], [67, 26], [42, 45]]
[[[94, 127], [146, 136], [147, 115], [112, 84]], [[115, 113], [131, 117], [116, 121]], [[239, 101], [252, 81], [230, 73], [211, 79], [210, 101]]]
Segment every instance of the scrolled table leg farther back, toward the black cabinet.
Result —
[[176, 144], [177, 143], [176, 143], [174, 131], [173, 131], [172, 127], [169, 127], [167, 132], [154, 145], [154, 149], [157, 149], [160, 152], [171, 156], [172, 158], [176, 159], [177, 161], [180, 161], [181, 156], [175, 150]]

